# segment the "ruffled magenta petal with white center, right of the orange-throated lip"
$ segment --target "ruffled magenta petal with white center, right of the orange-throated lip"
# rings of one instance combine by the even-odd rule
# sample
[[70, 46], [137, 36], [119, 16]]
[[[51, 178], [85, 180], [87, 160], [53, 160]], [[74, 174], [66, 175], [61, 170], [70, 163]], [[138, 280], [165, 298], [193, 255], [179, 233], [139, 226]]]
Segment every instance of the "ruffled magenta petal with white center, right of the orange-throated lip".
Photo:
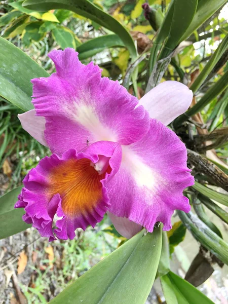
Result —
[[108, 211], [126, 217], [153, 232], [157, 221], [171, 229], [174, 210], [189, 212], [183, 190], [194, 184], [186, 166], [187, 151], [178, 136], [157, 120], [148, 134], [123, 147], [118, 173], [107, 184]]

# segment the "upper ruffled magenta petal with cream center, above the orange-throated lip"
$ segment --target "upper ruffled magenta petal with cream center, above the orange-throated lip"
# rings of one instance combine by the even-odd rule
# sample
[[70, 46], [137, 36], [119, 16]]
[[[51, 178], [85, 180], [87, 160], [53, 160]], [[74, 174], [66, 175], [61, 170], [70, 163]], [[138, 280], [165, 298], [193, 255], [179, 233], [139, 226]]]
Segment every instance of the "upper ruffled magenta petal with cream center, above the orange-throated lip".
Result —
[[136, 97], [118, 82], [101, 78], [101, 69], [82, 64], [73, 49], [52, 51], [56, 73], [33, 79], [33, 104], [45, 117], [45, 138], [61, 156], [70, 147], [82, 151], [87, 145], [109, 140], [127, 145], [149, 129], [149, 116]]

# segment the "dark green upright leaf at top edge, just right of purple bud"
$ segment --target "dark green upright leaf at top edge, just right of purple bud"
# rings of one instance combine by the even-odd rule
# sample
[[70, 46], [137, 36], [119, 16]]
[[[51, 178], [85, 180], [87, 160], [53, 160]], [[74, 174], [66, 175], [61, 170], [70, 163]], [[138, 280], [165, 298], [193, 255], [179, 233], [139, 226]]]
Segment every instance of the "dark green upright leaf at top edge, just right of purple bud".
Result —
[[167, 57], [178, 45], [181, 36], [191, 24], [198, 5], [198, 0], [174, 0], [172, 22], [165, 46], [159, 59]]

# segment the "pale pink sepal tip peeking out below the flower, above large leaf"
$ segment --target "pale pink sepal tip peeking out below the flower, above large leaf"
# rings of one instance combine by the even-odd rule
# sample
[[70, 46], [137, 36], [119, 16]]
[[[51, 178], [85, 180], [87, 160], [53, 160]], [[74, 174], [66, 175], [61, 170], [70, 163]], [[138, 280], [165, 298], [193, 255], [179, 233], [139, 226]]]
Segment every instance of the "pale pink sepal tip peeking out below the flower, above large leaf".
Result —
[[130, 221], [126, 217], [118, 217], [110, 212], [107, 212], [107, 215], [109, 216], [119, 234], [127, 239], [132, 238], [142, 229], [141, 225]]

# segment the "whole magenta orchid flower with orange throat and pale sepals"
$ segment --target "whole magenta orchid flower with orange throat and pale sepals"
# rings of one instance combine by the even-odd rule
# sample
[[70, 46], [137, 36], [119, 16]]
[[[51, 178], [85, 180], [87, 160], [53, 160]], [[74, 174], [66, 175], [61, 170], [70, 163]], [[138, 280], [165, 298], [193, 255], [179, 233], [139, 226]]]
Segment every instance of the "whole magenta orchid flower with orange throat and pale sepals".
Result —
[[192, 91], [167, 81], [138, 101], [73, 49], [49, 57], [56, 73], [31, 81], [34, 109], [18, 116], [53, 153], [23, 180], [15, 205], [23, 220], [50, 241], [73, 239], [106, 212], [127, 238], [142, 227], [153, 232], [158, 221], [170, 230], [174, 210], [191, 209], [183, 190], [194, 178], [183, 142], [166, 125], [186, 111]]

